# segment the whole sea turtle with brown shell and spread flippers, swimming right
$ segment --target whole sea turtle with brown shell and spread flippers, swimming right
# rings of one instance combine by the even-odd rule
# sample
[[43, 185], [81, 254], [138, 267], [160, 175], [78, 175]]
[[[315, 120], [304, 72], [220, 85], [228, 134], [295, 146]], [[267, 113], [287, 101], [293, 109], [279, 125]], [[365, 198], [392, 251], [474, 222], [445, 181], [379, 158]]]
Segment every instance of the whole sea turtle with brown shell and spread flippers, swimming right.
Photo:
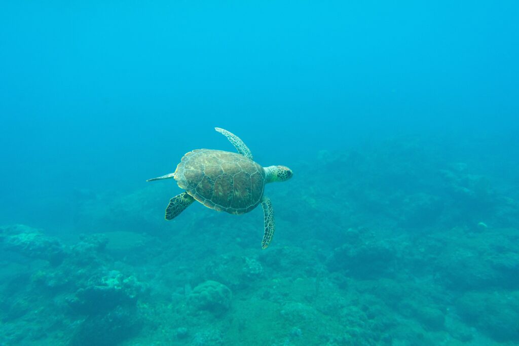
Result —
[[293, 175], [285, 166], [263, 168], [252, 159], [251, 150], [238, 136], [215, 128], [236, 147], [238, 154], [223, 150], [196, 149], [180, 160], [174, 173], [149, 179], [148, 182], [174, 178], [185, 192], [173, 197], [166, 208], [166, 219], [171, 220], [195, 200], [216, 211], [244, 214], [261, 203], [265, 234], [262, 248], [267, 248], [274, 234], [274, 209], [270, 199], [263, 195], [266, 183], [284, 182]]

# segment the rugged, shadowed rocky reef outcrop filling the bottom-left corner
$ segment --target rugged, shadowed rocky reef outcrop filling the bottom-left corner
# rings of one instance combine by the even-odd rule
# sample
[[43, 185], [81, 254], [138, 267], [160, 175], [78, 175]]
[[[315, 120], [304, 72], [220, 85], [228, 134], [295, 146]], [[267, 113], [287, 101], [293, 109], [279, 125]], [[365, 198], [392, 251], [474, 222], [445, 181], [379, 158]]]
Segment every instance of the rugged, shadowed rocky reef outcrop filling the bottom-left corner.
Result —
[[[113, 345], [138, 333], [138, 301], [147, 287], [123, 273], [127, 268], [115, 269], [104, 253], [107, 241], [102, 235], [82, 236], [65, 245], [24, 225], [3, 227], [0, 234], [2, 256], [18, 256], [11, 258], [11, 265], [19, 268], [3, 287], [10, 286], [12, 292], [2, 299], [8, 332], [2, 333], [0, 343], [38, 344], [49, 334], [49, 339], [59, 339], [47, 340], [49, 344]], [[35, 333], [34, 325], [42, 330]]]

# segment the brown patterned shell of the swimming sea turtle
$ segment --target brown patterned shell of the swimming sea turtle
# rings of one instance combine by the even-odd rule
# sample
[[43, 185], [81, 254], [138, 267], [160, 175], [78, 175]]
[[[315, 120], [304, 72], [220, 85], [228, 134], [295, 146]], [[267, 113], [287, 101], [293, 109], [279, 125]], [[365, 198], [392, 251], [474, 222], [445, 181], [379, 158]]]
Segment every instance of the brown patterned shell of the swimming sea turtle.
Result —
[[203, 205], [243, 214], [260, 204], [265, 170], [240, 154], [197, 149], [184, 155], [176, 167], [175, 180]]

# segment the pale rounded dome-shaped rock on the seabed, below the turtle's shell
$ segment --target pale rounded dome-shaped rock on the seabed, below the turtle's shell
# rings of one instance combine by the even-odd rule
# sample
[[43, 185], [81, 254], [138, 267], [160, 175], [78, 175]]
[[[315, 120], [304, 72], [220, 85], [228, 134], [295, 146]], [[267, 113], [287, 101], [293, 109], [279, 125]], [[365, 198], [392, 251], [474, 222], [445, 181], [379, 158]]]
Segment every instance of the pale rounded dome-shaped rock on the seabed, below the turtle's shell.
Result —
[[196, 286], [189, 294], [188, 301], [195, 309], [221, 315], [229, 309], [231, 298], [229, 287], [209, 280]]

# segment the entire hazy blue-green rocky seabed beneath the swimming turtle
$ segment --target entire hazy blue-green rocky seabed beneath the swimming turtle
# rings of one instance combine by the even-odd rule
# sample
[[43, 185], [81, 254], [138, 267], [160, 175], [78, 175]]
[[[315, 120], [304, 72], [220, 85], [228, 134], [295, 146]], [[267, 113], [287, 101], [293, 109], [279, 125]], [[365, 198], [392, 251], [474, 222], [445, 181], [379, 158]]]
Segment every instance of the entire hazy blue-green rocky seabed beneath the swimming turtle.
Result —
[[266, 186], [266, 250], [261, 208], [167, 222], [171, 181], [86, 194], [81, 234], [0, 227], [0, 345], [519, 344], [519, 172], [484, 162], [320, 151]]

